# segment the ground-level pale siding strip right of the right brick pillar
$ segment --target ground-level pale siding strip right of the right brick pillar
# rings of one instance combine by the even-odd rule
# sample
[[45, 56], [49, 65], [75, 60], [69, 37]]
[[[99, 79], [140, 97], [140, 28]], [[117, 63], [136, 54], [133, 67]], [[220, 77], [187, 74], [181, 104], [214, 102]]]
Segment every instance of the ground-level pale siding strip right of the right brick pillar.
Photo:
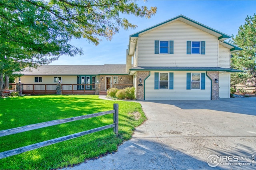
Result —
[[230, 73], [219, 75], [219, 98], [230, 98]]

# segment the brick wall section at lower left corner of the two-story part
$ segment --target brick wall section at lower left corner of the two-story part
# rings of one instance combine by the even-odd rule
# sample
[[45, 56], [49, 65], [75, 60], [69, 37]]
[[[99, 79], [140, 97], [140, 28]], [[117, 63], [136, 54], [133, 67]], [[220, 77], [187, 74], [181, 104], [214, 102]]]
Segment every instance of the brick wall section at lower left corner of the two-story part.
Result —
[[[144, 100], [144, 80], [149, 75], [149, 71], [137, 71], [136, 75], [136, 81], [137, 81], [137, 87], [136, 87], [136, 98], [137, 100]], [[141, 78], [141, 83], [140, 83]], [[139, 84], [142, 84], [142, 86], [139, 86]]]

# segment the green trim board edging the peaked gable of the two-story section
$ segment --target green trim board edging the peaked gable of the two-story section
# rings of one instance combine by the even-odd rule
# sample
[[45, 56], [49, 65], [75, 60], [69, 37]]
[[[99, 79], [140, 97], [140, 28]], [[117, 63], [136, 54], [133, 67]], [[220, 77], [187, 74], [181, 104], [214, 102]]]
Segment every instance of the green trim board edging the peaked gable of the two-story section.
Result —
[[213, 32], [215, 32], [215, 33], [220, 34], [220, 37], [218, 37], [219, 39], [222, 39], [222, 38], [228, 39], [228, 38], [231, 37], [230, 35], [227, 35], [227, 34], [225, 34], [225, 33], [222, 33], [222, 32], [220, 32], [220, 31], [217, 31], [216, 29], [213, 29], [213, 28], [211, 28], [211, 27], [208, 27], [208, 26], [206, 26], [206, 25], [204, 25], [204, 24], [202, 24], [202, 23], [199, 23], [199, 22], [197, 22], [197, 21], [194, 21], [194, 20], [192, 20], [192, 19], [190, 19], [190, 18], [188, 18], [188, 17], [186, 17], [186, 16], [183, 16], [183, 15], [176, 16], [176, 17], [174, 17], [174, 18], [171, 18], [170, 20], [166, 20], [166, 21], [161, 22], [161, 23], [158, 23], [158, 24], [156, 24], [156, 25], [154, 25], [154, 26], [152, 26], [152, 27], [143, 29], [142, 31], [139, 31], [139, 32], [137, 32], [137, 33], [134, 33], [134, 34], [130, 35], [130, 37], [138, 37], [140, 33], [146, 32], [146, 31], [148, 31], [148, 30], [150, 30], [150, 29], [156, 28], [156, 27], [158, 27], [158, 26], [160, 26], [160, 25], [164, 25], [165, 23], [168, 23], [168, 22], [170, 22], [170, 21], [177, 20], [177, 19], [179, 19], [179, 18], [183, 18], [183, 19], [188, 20], [188, 21], [190, 21], [190, 22], [192, 22], [192, 23], [196, 23], [197, 25], [200, 25], [201, 27], [204, 27], [204, 28], [206, 28], [206, 29], [209, 29], [210, 31], [213, 31]]

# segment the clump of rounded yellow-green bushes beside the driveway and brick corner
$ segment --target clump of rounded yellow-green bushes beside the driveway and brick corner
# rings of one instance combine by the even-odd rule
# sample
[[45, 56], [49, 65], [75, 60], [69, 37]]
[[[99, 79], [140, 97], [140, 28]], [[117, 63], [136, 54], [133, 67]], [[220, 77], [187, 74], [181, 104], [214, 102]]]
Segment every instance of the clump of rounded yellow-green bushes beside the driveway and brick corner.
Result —
[[117, 88], [110, 88], [107, 91], [107, 96], [110, 98], [118, 98], [118, 99], [135, 99], [135, 88], [134, 87], [127, 87], [121, 90]]

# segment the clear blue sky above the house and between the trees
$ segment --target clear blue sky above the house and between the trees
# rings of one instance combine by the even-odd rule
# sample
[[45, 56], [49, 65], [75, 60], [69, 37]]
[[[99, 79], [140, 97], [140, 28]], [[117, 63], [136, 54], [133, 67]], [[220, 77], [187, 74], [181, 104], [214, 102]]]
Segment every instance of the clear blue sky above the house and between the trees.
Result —
[[98, 46], [89, 43], [86, 39], [73, 39], [70, 43], [81, 47], [84, 55], [60, 56], [58, 61], [54, 61], [50, 65], [126, 64], [129, 35], [180, 14], [228, 35], [236, 35], [239, 26], [244, 24], [246, 16], [253, 16], [256, 13], [256, 1], [148, 0], [146, 3], [138, 1], [138, 4], [139, 6], [148, 6], [148, 8], [156, 6], [156, 15], [151, 19], [124, 16], [138, 27], [128, 31], [120, 29], [112, 41], [102, 39]]

